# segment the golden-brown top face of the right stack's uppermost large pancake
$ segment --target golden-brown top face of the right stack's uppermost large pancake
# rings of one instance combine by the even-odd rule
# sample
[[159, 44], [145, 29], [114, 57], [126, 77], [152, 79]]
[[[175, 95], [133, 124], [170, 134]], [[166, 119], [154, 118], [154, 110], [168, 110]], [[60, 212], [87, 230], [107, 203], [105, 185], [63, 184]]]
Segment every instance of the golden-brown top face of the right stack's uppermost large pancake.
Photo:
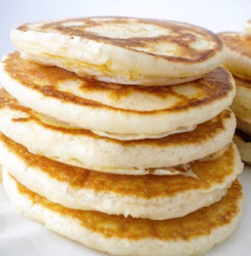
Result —
[[251, 35], [236, 32], [224, 32], [218, 35], [228, 49], [251, 58]]

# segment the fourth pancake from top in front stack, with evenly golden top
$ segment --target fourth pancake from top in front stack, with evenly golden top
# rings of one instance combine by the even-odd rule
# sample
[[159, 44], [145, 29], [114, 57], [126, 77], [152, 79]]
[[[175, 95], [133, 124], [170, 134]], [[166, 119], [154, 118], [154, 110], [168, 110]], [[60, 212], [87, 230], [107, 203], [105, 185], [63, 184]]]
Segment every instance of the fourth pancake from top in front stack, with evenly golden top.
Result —
[[34, 155], [0, 133], [0, 164], [28, 189], [65, 207], [149, 219], [182, 217], [221, 199], [242, 172], [236, 146], [190, 165], [193, 177], [103, 174]]

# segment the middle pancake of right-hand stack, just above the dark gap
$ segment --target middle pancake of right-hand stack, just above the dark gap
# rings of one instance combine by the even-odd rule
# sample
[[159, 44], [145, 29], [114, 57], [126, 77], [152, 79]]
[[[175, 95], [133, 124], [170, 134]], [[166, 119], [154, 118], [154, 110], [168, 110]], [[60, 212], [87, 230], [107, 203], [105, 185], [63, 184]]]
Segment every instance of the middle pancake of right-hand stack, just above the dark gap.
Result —
[[[231, 109], [236, 117], [247, 124], [251, 123], [251, 81], [237, 77], [234, 77], [234, 79], [236, 82], [236, 96]], [[246, 129], [245, 132], [250, 133], [251, 129]]]

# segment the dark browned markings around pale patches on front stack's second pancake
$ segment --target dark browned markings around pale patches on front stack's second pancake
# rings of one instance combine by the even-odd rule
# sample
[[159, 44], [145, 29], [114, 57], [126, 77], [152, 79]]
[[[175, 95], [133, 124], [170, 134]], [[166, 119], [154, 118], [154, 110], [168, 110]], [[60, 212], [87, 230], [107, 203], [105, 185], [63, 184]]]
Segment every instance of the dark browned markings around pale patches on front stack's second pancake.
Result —
[[[46, 97], [53, 97], [63, 102], [69, 102], [76, 105], [83, 105], [95, 108], [105, 108], [107, 110], [116, 110], [120, 112], [132, 113], [137, 115], [145, 114], [163, 114], [163, 113], [175, 113], [180, 111], [186, 111], [188, 108], [200, 107], [207, 104], [213, 104], [214, 101], [226, 98], [227, 95], [233, 91], [233, 78], [232, 75], [224, 68], [219, 67], [215, 71], [206, 74], [203, 78], [196, 81], [185, 83], [175, 86], [159, 86], [159, 87], [146, 87], [146, 86], [124, 86], [119, 84], [109, 84], [105, 82], [99, 82], [94, 79], [79, 78], [73, 72], [64, 70], [59, 67], [46, 67], [29, 62], [20, 58], [18, 52], [13, 52], [8, 55], [4, 62], [5, 71], [22, 86], [36, 90]], [[98, 101], [88, 100], [71, 93], [62, 92], [57, 90], [59, 82], [67, 80], [82, 80], [83, 86], [80, 86], [81, 90], [96, 90], [106, 91], [110, 94], [113, 100], [118, 100], [121, 97], [126, 97], [131, 92], [149, 93], [160, 98], [175, 97], [177, 103], [171, 107], [163, 108], [160, 110], [151, 111], [138, 111], [128, 110], [124, 108], [116, 108], [109, 105], [102, 104]], [[44, 85], [41, 85], [41, 81]], [[188, 98], [183, 94], [175, 92], [175, 88], [182, 87], [182, 90], [186, 90], [186, 86], [193, 86], [194, 89], [198, 89], [201, 93], [194, 95], [192, 98]]]

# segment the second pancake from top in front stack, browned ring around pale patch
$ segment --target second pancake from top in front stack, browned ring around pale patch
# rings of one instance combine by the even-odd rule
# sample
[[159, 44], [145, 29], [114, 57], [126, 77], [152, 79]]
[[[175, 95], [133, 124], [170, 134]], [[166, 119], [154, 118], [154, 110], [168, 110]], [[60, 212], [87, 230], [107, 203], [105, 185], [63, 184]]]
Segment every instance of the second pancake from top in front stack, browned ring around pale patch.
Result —
[[21, 104], [44, 115], [88, 130], [145, 137], [203, 123], [235, 96], [234, 79], [222, 67], [182, 85], [125, 87], [25, 61], [17, 52], [1, 64], [0, 80]]

